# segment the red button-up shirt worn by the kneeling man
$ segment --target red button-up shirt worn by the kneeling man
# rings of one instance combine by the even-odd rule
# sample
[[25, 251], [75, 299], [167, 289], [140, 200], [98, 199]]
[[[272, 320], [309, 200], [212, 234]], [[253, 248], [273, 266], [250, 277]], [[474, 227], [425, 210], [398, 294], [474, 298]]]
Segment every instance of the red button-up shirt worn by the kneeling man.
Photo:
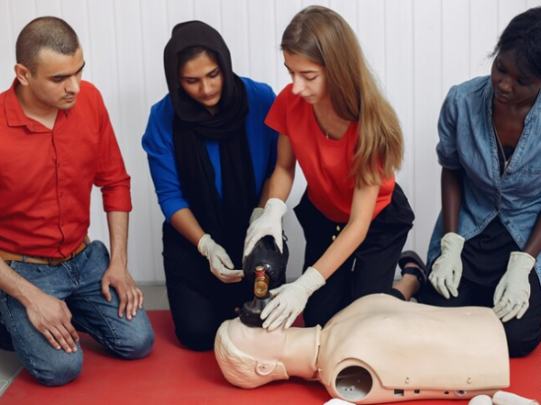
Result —
[[94, 85], [50, 130], [24, 114], [17, 83], [0, 94], [0, 249], [66, 257], [87, 235], [92, 185], [105, 211], [132, 211], [130, 176]]

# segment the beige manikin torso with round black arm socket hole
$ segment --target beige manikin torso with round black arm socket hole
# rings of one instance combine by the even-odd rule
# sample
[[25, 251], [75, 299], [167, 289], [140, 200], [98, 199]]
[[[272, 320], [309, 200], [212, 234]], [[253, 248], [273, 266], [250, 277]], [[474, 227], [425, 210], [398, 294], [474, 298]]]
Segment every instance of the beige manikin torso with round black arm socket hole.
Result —
[[318, 379], [356, 403], [464, 399], [509, 386], [500, 320], [488, 308], [439, 308], [374, 294], [327, 322]]

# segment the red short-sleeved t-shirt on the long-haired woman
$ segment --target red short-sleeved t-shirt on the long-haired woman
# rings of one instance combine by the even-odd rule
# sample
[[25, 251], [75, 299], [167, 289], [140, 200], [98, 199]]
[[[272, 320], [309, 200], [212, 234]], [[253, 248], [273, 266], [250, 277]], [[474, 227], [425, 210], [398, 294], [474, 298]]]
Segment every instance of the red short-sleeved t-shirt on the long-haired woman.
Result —
[[[287, 85], [272, 104], [265, 123], [287, 135], [298, 164], [307, 179], [310, 201], [329, 220], [347, 222], [350, 217], [354, 177], [350, 175], [358, 123], [352, 121], [342, 139], [327, 139], [319, 129], [314, 108]], [[395, 178], [382, 178], [380, 194], [372, 215], [389, 203]]]

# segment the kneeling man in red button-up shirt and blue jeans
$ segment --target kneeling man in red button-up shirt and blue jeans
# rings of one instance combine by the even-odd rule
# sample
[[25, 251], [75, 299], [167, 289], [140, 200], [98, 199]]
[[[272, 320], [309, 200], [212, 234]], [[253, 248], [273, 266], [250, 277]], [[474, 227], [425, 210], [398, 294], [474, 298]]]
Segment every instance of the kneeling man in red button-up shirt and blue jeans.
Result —
[[[35, 19], [16, 58], [14, 84], [0, 94], [0, 344], [13, 340], [32, 375], [62, 385], [81, 370], [77, 330], [129, 359], [147, 356], [154, 335], [127, 268], [130, 176], [101, 94], [81, 81], [77, 34]], [[110, 258], [87, 238], [93, 185]]]

